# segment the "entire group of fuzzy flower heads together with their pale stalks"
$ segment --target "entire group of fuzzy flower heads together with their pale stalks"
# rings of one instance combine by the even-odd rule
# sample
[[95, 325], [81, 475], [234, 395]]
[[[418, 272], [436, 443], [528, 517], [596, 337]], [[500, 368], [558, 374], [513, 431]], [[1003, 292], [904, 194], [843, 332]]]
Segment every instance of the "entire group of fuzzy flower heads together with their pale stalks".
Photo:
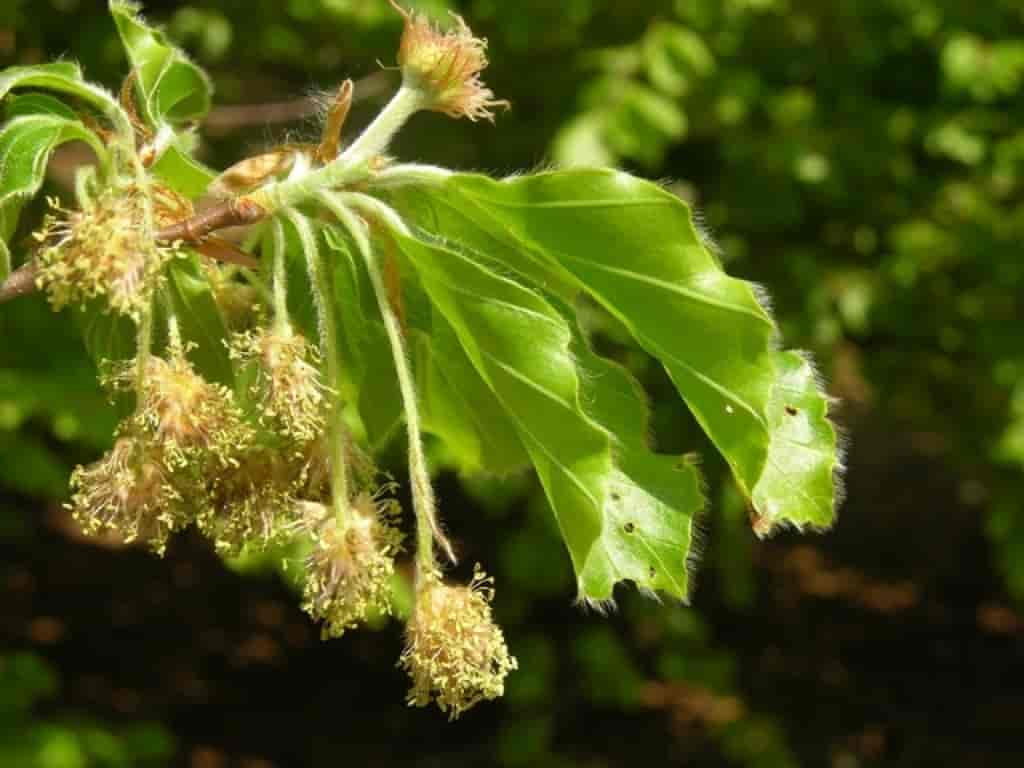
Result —
[[[264, 190], [266, 200], [253, 203], [259, 217], [279, 217], [268, 222], [272, 227], [290, 221], [300, 236], [297, 242], [311, 251], [305, 254], [311, 275], [307, 285], [314, 292], [319, 327], [310, 338], [319, 339], [318, 347], [289, 317], [286, 257], [294, 239], [284, 236], [286, 229], [273, 228], [272, 238], [263, 230], [263, 242], [273, 246], [272, 253], [262, 254], [263, 265], [272, 261], [268, 290], [264, 280], [269, 278], [254, 275], [260, 260], [211, 237], [224, 226], [254, 221], [256, 217], [242, 216], [248, 208], [241, 197], [194, 216], [189, 200], [147, 178], [152, 146], [145, 150], [150, 155], [138, 153], [130, 165], [112, 165], [101, 182], [97, 176], [105, 189], [93, 195], [94, 185], [80, 184], [79, 194], [89, 199], [79, 211], [51, 202], [35, 236], [40, 243], [36, 281], [55, 308], [99, 300], [105, 310], [134, 321], [138, 331], [137, 357], [111, 364], [101, 377], [113, 392], [134, 396], [133, 413], [118, 427], [111, 451], [73, 473], [68, 507], [75, 520], [86, 534], [143, 542], [160, 554], [175, 531], [191, 524], [225, 556], [278, 544], [303, 548], [302, 607], [321, 624], [325, 639], [392, 612], [403, 535], [393, 483], [382, 479], [347, 429], [349, 412], [340, 400], [345, 387], [344, 361], [337, 355], [339, 317], [332, 303], [339, 300], [337, 287], [319, 268], [322, 239], [315, 227], [322, 222], [310, 218], [306, 225], [303, 217], [317, 189], [344, 191], [390, 163], [384, 155], [387, 144], [416, 111], [476, 121], [493, 120], [496, 108], [508, 106], [481, 80], [486, 41], [475, 37], [461, 17], [455, 16], [454, 28], [445, 32], [394, 0], [392, 5], [404, 17], [404, 29], [397, 56], [402, 88], [385, 108], [390, 115], [382, 113], [371, 124], [349, 147], [361, 148], [346, 161], [347, 153], [339, 153], [335, 140], [345, 99], [351, 97], [350, 83], [343, 86], [331, 130], [316, 151], [316, 167], [303, 166], [297, 169], [302, 174], [288, 177], [278, 169], [266, 177], [278, 179], [276, 191]], [[123, 153], [129, 150], [123, 147]], [[300, 175], [302, 184], [296, 185]], [[255, 198], [260, 189], [250, 191], [244, 197]], [[366, 194], [348, 197], [388, 218], [381, 201]], [[348, 211], [345, 199], [339, 195], [321, 202], [344, 223], [346, 212], [362, 210], [352, 203]], [[340, 208], [328, 205], [332, 201]], [[182, 240], [166, 243], [158, 232], [162, 239]], [[254, 231], [249, 242], [260, 242], [260, 233]], [[434, 544], [446, 542], [437, 532], [402, 318], [391, 316], [396, 312], [388, 308], [388, 275], [378, 273], [367, 250], [375, 240], [362, 244], [352, 233], [366, 251], [370, 283], [386, 321], [406, 410], [420, 531], [415, 603], [398, 665], [412, 678], [409, 702], [422, 707], [434, 701], [454, 720], [477, 702], [501, 696], [517, 663], [492, 615], [494, 580], [477, 566], [468, 585], [450, 584], [434, 559]], [[191, 283], [182, 288], [178, 279], [185, 276], [184, 270], [173, 282], [165, 282], [164, 273], [185, 249], [190, 249], [189, 265], [201, 265], [201, 276], [189, 272]], [[218, 265], [218, 260], [230, 266]], [[177, 300], [171, 289], [188, 299], [193, 285], [204, 301], [212, 297], [220, 310], [217, 322], [208, 322], [208, 306], [195, 316], [178, 315], [182, 305], [189, 311], [197, 305]], [[272, 298], [269, 321], [258, 297]], [[196, 338], [188, 332], [197, 323], [204, 324], [205, 336], [220, 321], [229, 329], [225, 343], [232, 386], [206, 378], [195, 365], [195, 345], [183, 340]]]

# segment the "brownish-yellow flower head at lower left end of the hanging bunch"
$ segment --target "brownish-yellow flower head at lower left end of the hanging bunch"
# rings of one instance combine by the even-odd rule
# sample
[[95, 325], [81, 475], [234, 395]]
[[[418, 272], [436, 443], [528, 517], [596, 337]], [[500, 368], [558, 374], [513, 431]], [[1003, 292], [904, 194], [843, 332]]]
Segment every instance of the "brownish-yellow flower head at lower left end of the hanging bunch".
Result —
[[90, 535], [112, 531], [163, 554], [168, 537], [189, 522], [159, 451], [120, 437], [106, 455], [71, 476], [72, 516]]

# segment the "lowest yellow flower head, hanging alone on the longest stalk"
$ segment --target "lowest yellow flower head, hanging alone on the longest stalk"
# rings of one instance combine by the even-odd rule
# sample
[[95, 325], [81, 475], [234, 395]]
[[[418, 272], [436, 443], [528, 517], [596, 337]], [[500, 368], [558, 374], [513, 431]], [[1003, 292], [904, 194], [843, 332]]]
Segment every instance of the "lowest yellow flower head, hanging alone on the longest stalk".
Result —
[[455, 720], [505, 692], [505, 678], [517, 663], [492, 616], [494, 580], [479, 566], [468, 586], [453, 587], [435, 574], [423, 580], [398, 660], [413, 679], [410, 705], [436, 700]]

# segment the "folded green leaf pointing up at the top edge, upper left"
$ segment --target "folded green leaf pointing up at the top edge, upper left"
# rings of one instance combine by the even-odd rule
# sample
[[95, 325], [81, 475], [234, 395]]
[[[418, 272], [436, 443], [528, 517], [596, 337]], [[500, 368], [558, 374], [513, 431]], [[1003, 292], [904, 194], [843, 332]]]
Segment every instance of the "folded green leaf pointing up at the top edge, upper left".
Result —
[[111, 14], [137, 78], [146, 123], [159, 128], [205, 117], [213, 92], [206, 73], [142, 22], [134, 3], [112, 0]]

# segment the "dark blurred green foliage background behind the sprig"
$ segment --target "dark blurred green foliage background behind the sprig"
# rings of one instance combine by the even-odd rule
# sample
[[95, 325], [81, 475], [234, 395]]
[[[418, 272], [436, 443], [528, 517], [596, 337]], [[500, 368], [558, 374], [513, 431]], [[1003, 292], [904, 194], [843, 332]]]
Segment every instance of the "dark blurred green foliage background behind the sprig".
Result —
[[[582, 612], [532, 478], [442, 475], [520, 660], [502, 703], [449, 725], [402, 707], [397, 625], [321, 644], [266, 562], [225, 565], [190, 536], [165, 560], [77, 537], [67, 476], [115, 415], [74, 318], [20, 299], [0, 308], [0, 765], [1020, 765], [1024, 5], [408, 4], [485, 35], [513, 110], [418, 117], [396, 154], [618, 165], [691, 201], [841, 399], [838, 526], [754, 540], [665, 375], [606, 329], [658, 446], [706, 457], [693, 605], [624, 592], [612, 616]], [[117, 87], [104, 6], [6, 0], [0, 67], [73, 56]], [[346, 76], [365, 123], [397, 77], [376, 63], [400, 31], [384, 0], [146, 10], [214, 77], [212, 165], [314, 137], [308, 97]]]

